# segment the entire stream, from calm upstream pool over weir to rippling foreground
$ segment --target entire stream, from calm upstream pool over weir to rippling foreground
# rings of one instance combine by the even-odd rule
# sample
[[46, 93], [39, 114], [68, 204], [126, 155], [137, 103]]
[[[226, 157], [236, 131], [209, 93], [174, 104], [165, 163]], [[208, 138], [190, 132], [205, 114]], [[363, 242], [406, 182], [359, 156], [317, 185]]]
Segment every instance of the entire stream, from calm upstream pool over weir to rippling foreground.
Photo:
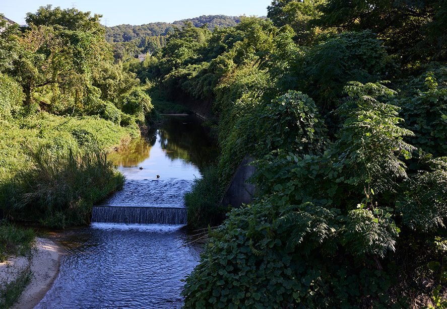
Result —
[[123, 189], [94, 208], [90, 226], [57, 235], [66, 253], [35, 308], [180, 308], [180, 280], [201, 252], [182, 196], [213, 154], [197, 120], [175, 117], [111, 156]]

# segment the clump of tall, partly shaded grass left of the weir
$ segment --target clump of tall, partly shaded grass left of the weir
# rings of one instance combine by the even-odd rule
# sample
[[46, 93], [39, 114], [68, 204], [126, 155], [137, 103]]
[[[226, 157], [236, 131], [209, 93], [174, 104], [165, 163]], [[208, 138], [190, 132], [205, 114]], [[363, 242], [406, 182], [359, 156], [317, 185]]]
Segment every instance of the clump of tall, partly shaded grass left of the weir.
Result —
[[83, 150], [55, 152], [40, 145], [30, 149], [29, 156], [32, 168], [0, 187], [3, 211], [14, 219], [40, 221], [51, 228], [87, 224], [93, 204], [124, 182], [94, 143]]

